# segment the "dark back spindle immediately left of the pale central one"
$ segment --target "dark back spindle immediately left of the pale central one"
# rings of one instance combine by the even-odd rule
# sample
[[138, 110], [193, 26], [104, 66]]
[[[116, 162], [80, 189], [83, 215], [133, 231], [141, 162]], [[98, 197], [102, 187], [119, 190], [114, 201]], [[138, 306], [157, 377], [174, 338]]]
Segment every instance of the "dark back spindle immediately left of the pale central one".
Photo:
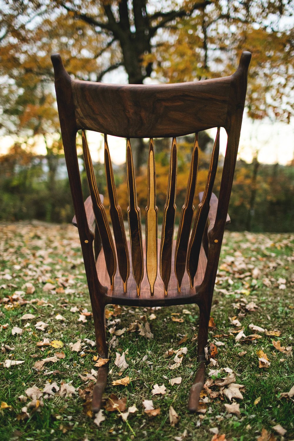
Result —
[[133, 153], [130, 145], [130, 139], [127, 139], [127, 188], [129, 206], [127, 208], [129, 228], [130, 228], [130, 244], [132, 256], [132, 270], [134, 279], [137, 283], [137, 295], [140, 295], [140, 285], [143, 279], [143, 246], [141, 232], [141, 212], [137, 203], [137, 190], [134, 174]]

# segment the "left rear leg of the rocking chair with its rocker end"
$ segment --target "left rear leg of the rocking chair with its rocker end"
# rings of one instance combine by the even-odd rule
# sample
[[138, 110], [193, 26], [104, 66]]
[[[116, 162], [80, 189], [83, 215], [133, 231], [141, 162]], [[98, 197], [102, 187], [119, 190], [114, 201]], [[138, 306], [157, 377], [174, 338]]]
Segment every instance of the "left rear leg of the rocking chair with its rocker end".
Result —
[[[93, 318], [96, 336], [97, 352], [101, 358], [108, 357], [108, 347], [106, 344], [106, 333], [105, 333], [105, 314], [104, 308], [93, 308]], [[97, 373], [97, 381], [93, 387], [93, 396], [91, 409], [93, 412], [99, 412], [102, 403], [102, 396], [107, 383], [108, 374], [108, 363], [104, 366], [100, 366]]]

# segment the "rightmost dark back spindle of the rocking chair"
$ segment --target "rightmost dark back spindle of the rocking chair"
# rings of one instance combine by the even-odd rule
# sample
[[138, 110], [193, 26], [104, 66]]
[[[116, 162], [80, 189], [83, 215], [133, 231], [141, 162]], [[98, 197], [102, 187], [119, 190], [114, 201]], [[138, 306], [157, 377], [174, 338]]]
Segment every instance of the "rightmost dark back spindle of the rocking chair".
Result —
[[208, 218], [209, 202], [212, 194], [214, 179], [216, 177], [217, 164], [219, 160], [219, 151], [220, 151], [220, 127], [218, 127], [217, 129], [216, 139], [212, 149], [212, 155], [208, 169], [208, 176], [205, 185], [204, 196], [197, 207], [196, 217], [188, 248], [187, 271], [190, 277], [191, 287], [193, 287], [194, 276], [197, 271], [199, 251], [201, 248], [202, 237]]

